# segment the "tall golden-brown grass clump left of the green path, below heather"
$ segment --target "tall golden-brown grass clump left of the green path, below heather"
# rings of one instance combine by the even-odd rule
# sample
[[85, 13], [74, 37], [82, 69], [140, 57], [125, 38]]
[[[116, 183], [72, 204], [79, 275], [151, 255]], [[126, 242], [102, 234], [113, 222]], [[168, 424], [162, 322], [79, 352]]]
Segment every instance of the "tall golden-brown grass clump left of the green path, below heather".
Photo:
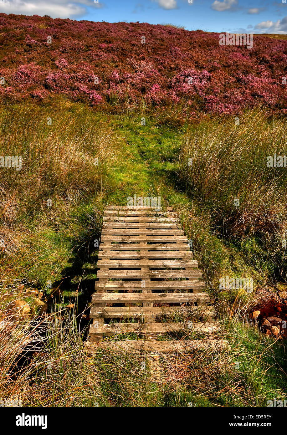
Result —
[[0, 218], [5, 224], [47, 209], [48, 199], [77, 203], [103, 194], [116, 140], [99, 116], [69, 102], [2, 108], [0, 116], [0, 155], [22, 156], [21, 171], [0, 168]]

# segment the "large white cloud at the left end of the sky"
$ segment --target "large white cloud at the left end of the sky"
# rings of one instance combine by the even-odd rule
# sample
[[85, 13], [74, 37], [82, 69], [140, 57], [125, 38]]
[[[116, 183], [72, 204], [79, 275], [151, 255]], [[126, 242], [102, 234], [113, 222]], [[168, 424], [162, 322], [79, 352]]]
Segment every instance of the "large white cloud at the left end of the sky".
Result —
[[103, 3], [94, 3], [93, 0], [4, 0], [0, 3], [0, 12], [23, 15], [50, 15], [52, 18], [70, 18], [83, 15], [87, 8], [102, 7]]

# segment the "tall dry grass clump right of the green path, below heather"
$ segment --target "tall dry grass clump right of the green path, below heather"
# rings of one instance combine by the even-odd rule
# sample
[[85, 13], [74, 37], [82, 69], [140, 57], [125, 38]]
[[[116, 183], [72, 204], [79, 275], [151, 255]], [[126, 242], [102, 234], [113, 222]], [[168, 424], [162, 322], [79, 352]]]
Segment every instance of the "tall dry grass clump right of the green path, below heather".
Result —
[[223, 117], [202, 122], [184, 137], [180, 177], [188, 193], [211, 211], [220, 232], [282, 239], [287, 232], [287, 168], [267, 167], [267, 156], [286, 155], [286, 143], [287, 121], [268, 120], [260, 110], [242, 115], [239, 125]]

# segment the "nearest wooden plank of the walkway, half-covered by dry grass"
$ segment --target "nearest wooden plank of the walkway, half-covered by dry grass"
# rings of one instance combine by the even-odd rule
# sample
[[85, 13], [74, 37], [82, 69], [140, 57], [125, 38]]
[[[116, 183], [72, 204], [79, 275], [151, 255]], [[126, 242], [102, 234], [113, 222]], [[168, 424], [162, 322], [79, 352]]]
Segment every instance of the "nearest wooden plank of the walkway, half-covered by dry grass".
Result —
[[93, 354], [99, 348], [111, 351], [131, 351], [131, 352], [150, 352], [157, 351], [162, 353], [181, 352], [187, 353], [193, 350], [213, 349], [220, 351], [228, 348], [228, 341], [219, 339], [204, 338], [202, 340], [124, 340], [124, 341], [100, 341], [97, 344], [91, 342], [85, 343], [85, 348], [88, 354]]

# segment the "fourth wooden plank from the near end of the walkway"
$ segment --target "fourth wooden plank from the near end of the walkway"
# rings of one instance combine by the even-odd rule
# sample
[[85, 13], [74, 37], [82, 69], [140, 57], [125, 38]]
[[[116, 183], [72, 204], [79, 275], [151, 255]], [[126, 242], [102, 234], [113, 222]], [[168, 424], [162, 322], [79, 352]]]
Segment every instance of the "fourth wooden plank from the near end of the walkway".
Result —
[[208, 293], [94, 293], [92, 304], [154, 304], [187, 303], [209, 301]]

